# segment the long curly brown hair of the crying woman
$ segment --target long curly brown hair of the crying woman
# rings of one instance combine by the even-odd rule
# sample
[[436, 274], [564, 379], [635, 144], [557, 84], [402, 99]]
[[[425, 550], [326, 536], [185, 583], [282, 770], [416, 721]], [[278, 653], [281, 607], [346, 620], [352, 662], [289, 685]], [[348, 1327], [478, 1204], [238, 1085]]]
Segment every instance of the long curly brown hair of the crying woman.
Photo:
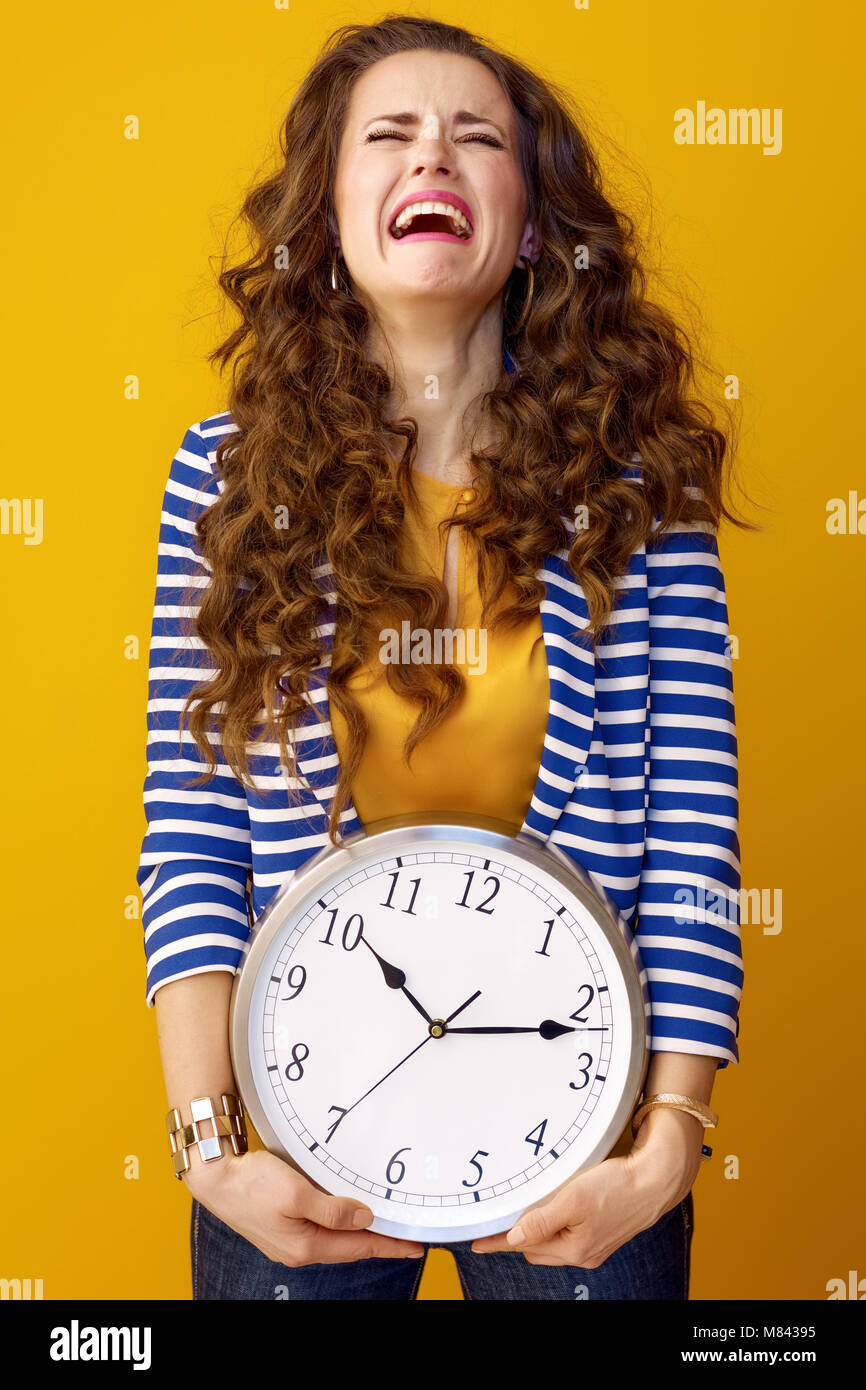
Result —
[[[256, 785], [247, 745], [274, 733], [284, 766], [297, 776], [295, 721], [303, 712], [309, 719], [309, 692], [322, 678], [316, 628], [325, 592], [314, 570], [327, 557], [341, 634], [324, 667], [327, 694], [350, 739], [331, 802], [334, 844], [366, 739], [348, 681], [381, 624], [384, 596], [393, 626], [407, 619], [411, 628], [445, 627], [448, 613], [445, 585], [405, 573], [399, 559], [417, 423], [388, 418], [393, 384], [363, 350], [368, 311], [331, 286], [332, 178], [353, 82], [381, 58], [416, 49], [475, 58], [498, 76], [516, 114], [527, 217], [542, 243], [518, 331], [520, 274], [503, 300], [503, 346], [516, 370], [503, 367], [480, 413], [496, 445], [478, 448], [473, 438], [478, 498], [449, 523], [475, 537], [484, 617], [499, 607], [498, 626], [537, 613], [537, 571], [569, 546], [589, 607], [585, 637], [598, 642], [616, 580], [655, 517], [662, 530], [674, 521], [716, 528], [723, 516], [748, 525], [723, 499], [731, 427], [726, 432], [694, 399], [694, 346], [646, 299], [634, 222], [605, 196], [570, 96], [466, 29], [434, 19], [386, 15], [331, 33], [285, 118], [282, 165], [240, 208], [252, 250], [231, 265], [224, 254], [220, 286], [240, 324], [209, 360], [224, 370], [234, 359], [228, 410], [236, 432], [220, 442], [224, 489], [197, 523], [213, 577], [195, 620], [217, 674], [190, 692], [181, 723], [192, 705], [189, 730], [207, 759], [197, 783], [217, 767], [207, 723], [220, 705], [215, 727], [243, 784]], [[577, 246], [587, 247], [581, 270]], [[395, 438], [406, 441], [399, 463]], [[641, 482], [623, 477], [635, 452]], [[562, 513], [574, 517], [578, 506], [588, 524], [570, 531]], [[509, 582], [518, 598], [502, 607]], [[418, 706], [403, 749], [409, 760], [461, 698], [464, 677], [448, 664], [409, 663], [388, 664], [386, 678]]]

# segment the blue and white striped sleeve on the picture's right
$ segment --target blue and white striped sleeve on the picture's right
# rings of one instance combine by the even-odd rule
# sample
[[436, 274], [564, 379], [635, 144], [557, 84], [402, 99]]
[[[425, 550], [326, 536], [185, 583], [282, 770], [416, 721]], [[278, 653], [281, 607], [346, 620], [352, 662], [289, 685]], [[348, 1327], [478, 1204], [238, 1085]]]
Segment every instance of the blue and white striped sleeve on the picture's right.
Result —
[[740, 1061], [737, 731], [728, 616], [712, 530], [646, 546], [649, 748], [637, 941], [652, 1051]]

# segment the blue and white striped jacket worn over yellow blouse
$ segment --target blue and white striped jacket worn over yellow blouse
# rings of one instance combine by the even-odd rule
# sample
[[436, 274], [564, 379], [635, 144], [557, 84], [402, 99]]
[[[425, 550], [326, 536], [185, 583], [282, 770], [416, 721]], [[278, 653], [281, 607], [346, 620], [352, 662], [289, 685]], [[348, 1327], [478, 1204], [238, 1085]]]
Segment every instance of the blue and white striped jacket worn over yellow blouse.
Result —
[[[189, 587], [203, 589], [195, 523], [222, 488], [217, 443], [228, 411], [190, 425], [163, 503], [147, 702], [147, 830], [138, 884], [147, 965], [146, 1001], [170, 980], [235, 972], [253, 919], [277, 888], [327, 845], [338, 752], [316, 708], [297, 730], [300, 805], [288, 796], [279, 745], [249, 752], [260, 791], [247, 791], [218, 753], [213, 781], [186, 726], [183, 698], [214, 674], [199, 639], [181, 638]], [[639, 477], [639, 455], [632, 459]], [[571, 528], [570, 520], [566, 525]], [[336, 595], [320, 632], [327, 670]], [[742, 987], [737, 734], [724, 580], [716, 537], [677, 527], [641, 546], [606, 641], [571, 641], [588, 624], [567, 550], [548, 556], [541, 620], [550, 709], [538, 780], [523, 830], [550, 840], [601, 883], [635, 931], [651, 992], [652, 1049], [740, 1059]], [[195, 606], [193, 606], [195, 607]], [[328, 714], [327, 692], [311, 699]], [[209, 724], [215, 728], [213, 719]], [[306, 783], [307, 785], [303, 785]], [[296, 784], [297, 785], [297, 784]], [[491, 812], [492, 815], [495, 812]], [[350, 803], [343, 833], [361, 828]], [[249, 892], [249, 898], [247, 898]]]

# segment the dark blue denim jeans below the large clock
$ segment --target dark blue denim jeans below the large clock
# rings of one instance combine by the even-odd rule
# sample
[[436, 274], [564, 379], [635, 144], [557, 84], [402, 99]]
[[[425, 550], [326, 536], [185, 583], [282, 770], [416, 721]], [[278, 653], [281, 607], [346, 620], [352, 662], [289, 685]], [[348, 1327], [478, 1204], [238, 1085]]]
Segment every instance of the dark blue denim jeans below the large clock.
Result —
[[[477, 1255], [450, 1250], [464, 1298], [688, 1298], [694, 1201], [688, 1195], [614, 1250], [598, 1269], [531, 1265], [520, 1251]], [[416, 1298], [427, 1254], [417, 1259], [356, 1259], [292, 1269], [268, 1259], [195, 1201], [190, 1223], [193, 1298]]]

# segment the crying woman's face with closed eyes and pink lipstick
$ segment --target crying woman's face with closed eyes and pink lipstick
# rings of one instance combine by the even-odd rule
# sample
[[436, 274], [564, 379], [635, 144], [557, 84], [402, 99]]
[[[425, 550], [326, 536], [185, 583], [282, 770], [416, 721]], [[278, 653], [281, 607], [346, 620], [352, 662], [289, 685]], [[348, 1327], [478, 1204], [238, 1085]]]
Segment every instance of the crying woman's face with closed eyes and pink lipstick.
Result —
[[[449, 204], [393, 235], [402, 204]], [[520, 256], [535, 260], [517, 122], [493, 74], [474, 58], [424, 50], [382, 58], [356, 81], [334, 202], [353, 292], [385, 318], [473, 316]], [[467, 225], [468, 222], [468, 225]]]

